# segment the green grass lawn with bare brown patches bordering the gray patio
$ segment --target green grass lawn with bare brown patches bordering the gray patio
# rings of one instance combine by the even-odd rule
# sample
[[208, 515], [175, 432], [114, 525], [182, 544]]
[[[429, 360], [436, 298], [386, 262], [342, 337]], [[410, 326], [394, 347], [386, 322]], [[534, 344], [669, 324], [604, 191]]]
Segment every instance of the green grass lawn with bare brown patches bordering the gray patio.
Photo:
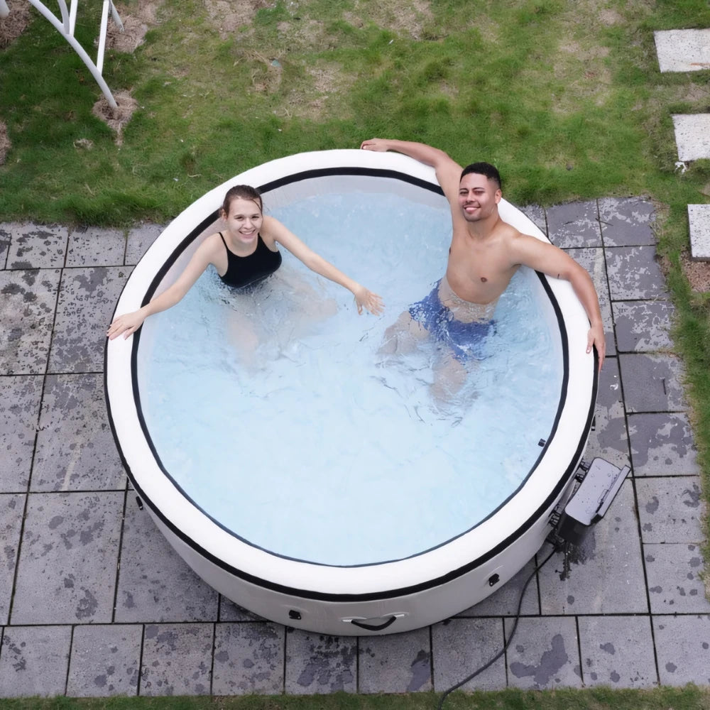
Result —
[[[146, 4], [128, 0], [119, 12]], [[11, 141], [0, 221], [168, 222], [253, 165], [373, 136], [431, 143], [460, 163], [488, 160], [517, 204], [647, 195], [710, 496], [710, 295], [694, 293], [681, 266], [687, 204], [708, 202], [710, 160], [676, 170], [671, 119], [709, 111], [710, 71], [660, 74], [653, 41], [655, 30], [710, 27], [707, 0], [242, 0], [229, 16], [216, 0], [153, 4], [143, 45], [107, 52], [109, 87], [138, 102], [120, 141], [92, 114], [97, 84], [38, 13], [0, 50], [0, 121]], [[101, 4], [89, 5], [77, 38], [93, 54]], [[433, 705], [430, 694], [1, 701], [18, 709]], [[710, 695], [510, 691], [454, 694], [447, 707], [690, 709], [710, 707]]]

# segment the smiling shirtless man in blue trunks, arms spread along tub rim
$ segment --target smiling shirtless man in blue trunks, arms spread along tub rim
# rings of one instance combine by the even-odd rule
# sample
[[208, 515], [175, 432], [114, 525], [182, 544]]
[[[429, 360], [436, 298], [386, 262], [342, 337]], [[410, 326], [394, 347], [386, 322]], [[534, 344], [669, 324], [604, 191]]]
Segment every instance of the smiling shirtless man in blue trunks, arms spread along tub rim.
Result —
[[[477, 359], [481, 341], [491, 329], [496, 302], [521, 265], [529, 266], [572, 284], [589, 317], [586, 351], [593, 347], [604, 360], [606, 342], [599, 297], [589, 273], [564, 251], [527, 234], [520, 234], [498, 214], [501, 176], [489, 163], [461, 168], [449, 155], [424, 143], [371, 138], [366, 151], [397, 151], [431, 165], [449, 201], [453, 236], [444, 276], [432, 292], [400, 315], [388, 328], [383, 349], [406, 348], [403, 336], [415, 339], [431, 335], [449, 346], [456, 365]], [[465, 377], [463, 368], [449, 368], [449, 390]], [[460, 380], [457, 382], [457, 380]]]

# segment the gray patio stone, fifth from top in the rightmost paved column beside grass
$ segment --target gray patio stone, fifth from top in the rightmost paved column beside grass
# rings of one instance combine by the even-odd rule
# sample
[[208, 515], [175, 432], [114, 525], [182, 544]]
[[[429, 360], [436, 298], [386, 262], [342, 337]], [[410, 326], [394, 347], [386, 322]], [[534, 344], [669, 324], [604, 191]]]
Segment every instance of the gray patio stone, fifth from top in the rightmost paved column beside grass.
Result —
[[630, 414], [634, 476], [685, 476], [699, 474], [687, 415]]

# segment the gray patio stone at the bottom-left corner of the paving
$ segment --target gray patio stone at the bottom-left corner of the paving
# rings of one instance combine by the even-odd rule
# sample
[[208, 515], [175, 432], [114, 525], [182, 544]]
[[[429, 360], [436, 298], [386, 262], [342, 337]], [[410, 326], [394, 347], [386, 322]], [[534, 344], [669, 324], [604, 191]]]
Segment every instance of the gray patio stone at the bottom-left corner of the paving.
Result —
[[6, 626], [0, 697], [63, 695], [71, 638], [71, 626]]

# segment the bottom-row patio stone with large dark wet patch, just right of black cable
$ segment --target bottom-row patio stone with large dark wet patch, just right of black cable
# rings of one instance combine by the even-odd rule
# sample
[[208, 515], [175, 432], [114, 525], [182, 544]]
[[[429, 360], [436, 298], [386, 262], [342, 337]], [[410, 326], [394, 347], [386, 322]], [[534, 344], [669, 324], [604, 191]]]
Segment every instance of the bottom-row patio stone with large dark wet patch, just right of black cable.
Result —
[[[506, 638], [513, 628], [506, 618]], [[508, 685], [515, 688], [581, 687], [574, 618], [521, 618], [508, 646]]]

